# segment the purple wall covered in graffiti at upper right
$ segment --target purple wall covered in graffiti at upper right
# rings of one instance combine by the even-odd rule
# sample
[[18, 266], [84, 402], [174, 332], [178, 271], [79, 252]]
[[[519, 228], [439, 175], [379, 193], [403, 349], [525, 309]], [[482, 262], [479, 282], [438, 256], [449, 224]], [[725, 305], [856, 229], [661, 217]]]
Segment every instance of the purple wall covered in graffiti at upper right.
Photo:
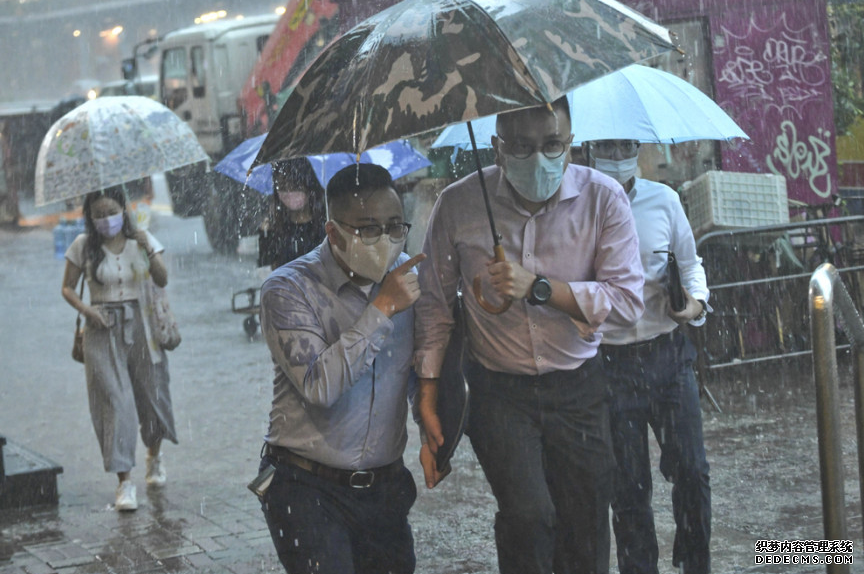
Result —
[[715, 99], [752, 138], [721, 145], [724, 170], [783, 175], [810, 204], [837, 193], [825, 0], [629, 4], [660, 22], [707, 19]]

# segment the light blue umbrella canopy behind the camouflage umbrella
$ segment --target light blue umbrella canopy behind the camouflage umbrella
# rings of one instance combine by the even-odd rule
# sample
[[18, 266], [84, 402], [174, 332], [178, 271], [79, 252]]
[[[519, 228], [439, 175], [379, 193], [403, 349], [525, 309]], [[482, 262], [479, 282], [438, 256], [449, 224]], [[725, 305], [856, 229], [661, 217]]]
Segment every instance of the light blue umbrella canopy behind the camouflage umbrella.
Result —
[[[568, 95], [577, 142], [626, 139], [645, 143], [731, 140], [747, 134], [714, 101], [678, 76], [634, 64]], [[471, 122], [477, 145], [491, 146], [495, 117]], [[465, 124], [445, 129], [433, 148], [466, 147]]]

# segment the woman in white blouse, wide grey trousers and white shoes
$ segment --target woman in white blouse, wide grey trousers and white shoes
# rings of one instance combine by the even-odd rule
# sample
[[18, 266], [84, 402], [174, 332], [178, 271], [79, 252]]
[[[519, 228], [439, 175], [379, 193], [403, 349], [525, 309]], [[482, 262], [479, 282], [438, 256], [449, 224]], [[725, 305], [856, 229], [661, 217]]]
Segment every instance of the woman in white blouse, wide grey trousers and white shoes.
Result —
[[[135, 510], [130, 478], [135, 466], [137, 430], [147, 447], [148, 486], [165, 484], [160, 447], [177, 442], [168, 389], [165, 351], [150, 344], [150, 327], [139, 296], [145, 281], [164, 287], [168, 273], [162, 245], [148, 231], [136, 230], [126, 210], [122, 186], [84, 199], [85, 233], [66, 252], [63, 297], [85, 319], [84, 370], [90, 416], [106, 472], [119, 479], [115, 508]], [[90, 304], [76, 287], [82, 275]]]

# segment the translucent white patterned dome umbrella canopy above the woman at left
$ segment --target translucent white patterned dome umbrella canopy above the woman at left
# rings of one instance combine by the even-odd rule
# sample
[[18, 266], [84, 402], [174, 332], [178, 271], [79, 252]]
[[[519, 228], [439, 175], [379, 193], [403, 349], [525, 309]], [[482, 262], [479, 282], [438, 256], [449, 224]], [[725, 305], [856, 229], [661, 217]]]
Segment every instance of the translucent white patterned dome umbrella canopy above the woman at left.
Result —
[[209, 160], [177, 114], [143, 96], [96, 98], [51, 126], [36, 159], [36, 205]]

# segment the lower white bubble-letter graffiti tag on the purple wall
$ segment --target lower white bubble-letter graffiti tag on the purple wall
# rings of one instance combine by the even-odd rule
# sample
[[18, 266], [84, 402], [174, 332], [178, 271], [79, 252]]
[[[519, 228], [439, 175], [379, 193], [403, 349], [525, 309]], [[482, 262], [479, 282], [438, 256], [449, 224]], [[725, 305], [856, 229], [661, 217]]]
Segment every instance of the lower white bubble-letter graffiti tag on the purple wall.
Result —
[[[807, 147], [803, 141], [798, 141], [795, 124], [785, 120], [780, 124], [780, 134], [774, 140], [774, 151], [765, 157], [765, 163], [777, 175], [790, 179], [806, 176], [813, 193], [819, 197], [830, 197], [831, 178], [825, 158], [831, 153], [831, 148], [825, 140], [830, 138], [831, 132], [820, 128], [818, 134], [818, 137], [811, 135], [807, 138], [811, 146]], [[776, 166], [774, 160], [777, 160]]]

